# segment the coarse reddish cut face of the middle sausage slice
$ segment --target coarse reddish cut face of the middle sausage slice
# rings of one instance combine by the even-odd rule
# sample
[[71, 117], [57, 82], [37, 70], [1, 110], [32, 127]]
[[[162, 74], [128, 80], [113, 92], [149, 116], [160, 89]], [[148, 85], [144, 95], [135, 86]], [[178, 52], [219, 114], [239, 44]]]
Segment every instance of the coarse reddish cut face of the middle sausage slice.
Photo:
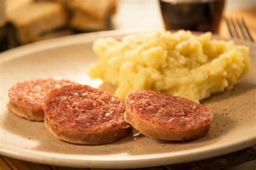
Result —
[[82, 84], [53, 89], [44, 100], [45, 116], [67, 129], [126, 129], [125, 104], [104, 90]]

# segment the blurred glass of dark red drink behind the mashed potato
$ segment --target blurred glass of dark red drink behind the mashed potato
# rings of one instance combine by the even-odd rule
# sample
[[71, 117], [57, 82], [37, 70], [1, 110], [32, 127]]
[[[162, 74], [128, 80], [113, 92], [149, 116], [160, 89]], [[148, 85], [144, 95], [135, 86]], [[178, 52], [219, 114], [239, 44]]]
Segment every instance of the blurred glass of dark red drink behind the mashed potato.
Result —
[[166, 30], [218, 32], [224, 0], [160, 0]]

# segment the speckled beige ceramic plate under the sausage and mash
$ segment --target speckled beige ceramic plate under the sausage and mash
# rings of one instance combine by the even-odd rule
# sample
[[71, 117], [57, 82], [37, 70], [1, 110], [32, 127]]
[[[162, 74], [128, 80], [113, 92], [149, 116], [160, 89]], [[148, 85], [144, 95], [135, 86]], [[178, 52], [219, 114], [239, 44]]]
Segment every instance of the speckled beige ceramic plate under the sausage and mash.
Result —
[[222, 155], [256, 143], [256, 46], [250, 47], [252, 70], [232, 90], [213, 95], [201, 103], [212, 109], [214, 120], [207, 136], [175, 142], [131, 133], [114, 143], [83, 146], [52, 136], [43, 122], [17, 117], [7, 108], [8, 89], [17, 82], [62, 77], [97, 87], [86, 75], [97, 60], [92, 42], [99, 37], [121, 38], [130, 32], [98, 32], [52, 39], [12, 49], [1, 54], [0, 154], [40, 164], [91, 167], [138, 168], [176, 164]]

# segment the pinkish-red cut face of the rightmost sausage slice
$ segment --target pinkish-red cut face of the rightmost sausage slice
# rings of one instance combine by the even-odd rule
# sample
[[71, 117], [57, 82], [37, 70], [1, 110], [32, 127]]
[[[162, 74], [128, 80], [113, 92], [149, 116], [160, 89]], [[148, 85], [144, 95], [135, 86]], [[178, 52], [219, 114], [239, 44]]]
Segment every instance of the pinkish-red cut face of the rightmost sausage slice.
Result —
[[125, 102], [136, 116], [165, 129], [196, 129], [213, 119], [212, 111], [204, 105], [152, 90], [132, 91]]

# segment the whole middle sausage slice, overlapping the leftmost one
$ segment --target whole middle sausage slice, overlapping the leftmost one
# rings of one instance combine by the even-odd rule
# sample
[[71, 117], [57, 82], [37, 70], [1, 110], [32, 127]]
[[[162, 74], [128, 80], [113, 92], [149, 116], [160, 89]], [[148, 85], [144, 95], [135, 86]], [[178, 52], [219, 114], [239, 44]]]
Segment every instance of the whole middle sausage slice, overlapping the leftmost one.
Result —
[[131, 132], [125, 104], [104, 90], [70, 84], [51, 90], [43, 104], [46, 128], [75, 144], [105, 144]]

